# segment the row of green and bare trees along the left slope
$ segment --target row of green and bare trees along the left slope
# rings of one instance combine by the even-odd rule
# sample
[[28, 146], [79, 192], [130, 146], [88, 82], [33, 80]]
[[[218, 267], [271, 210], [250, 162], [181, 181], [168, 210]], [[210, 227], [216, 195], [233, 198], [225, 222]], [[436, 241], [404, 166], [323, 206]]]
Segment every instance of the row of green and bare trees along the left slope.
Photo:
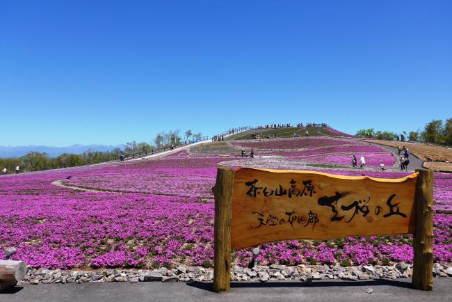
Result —
[[122, 148], [115, 148], [111, 151], [88, 150], [81, 154], [60, 154], [58, 157], [50, 157], [45, 152], [29, 152], [22, 157], [0, 157], [0, 170], [6, 168], [7, 173], [15, 173], [15, 168], [19, 166], [21, 172], [32, 172], [49, 170], [56, 168], [69, 168], [74, 166], [84, 166], [99, 164], [106, 161], [119, 159], [120, 154], [134, 154], [152, 152], [159, 148], [166, 148], [170, 145], [179, 145], [189, 138], [201, 139], [201, 132], [193, 134], [191, 129], [184, 132], [182, 136], [179, 129], [169, 132], [161, 132], [156, 135], [152, 143], [131, 141], [122, 145]]

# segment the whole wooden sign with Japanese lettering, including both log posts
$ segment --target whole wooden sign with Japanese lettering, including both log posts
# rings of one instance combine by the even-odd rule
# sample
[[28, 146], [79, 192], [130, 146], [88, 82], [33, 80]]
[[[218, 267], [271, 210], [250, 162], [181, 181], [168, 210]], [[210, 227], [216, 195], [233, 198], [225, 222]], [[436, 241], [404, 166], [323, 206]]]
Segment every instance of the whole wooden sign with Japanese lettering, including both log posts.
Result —
[[400, 179], [218, 168], [213, 289], [230, 288], [231, 248], [287, 239], [414, 234], [414, 288], [433, 288], [433, 172]]

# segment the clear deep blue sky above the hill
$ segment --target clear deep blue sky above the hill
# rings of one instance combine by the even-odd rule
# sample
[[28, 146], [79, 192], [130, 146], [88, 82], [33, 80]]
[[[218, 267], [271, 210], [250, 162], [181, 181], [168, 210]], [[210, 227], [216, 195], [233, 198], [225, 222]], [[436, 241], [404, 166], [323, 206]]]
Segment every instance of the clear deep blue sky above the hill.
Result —
[[452, 118], [452, 1], [0, 3], [0, 145]]

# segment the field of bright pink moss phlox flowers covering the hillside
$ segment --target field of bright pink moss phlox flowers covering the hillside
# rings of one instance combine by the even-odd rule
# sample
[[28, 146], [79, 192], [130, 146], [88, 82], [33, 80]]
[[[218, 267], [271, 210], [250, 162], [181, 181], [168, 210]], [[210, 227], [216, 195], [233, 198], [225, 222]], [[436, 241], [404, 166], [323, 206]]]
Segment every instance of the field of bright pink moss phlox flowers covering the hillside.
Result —
[[[312, 162], [350, 166], [350, 154], [355, 153], [358, 158], [364, 154], [368, 168], [324, 170], [389, 178], [407, 175], [396, 168], [385, 171], [371, 168], [380, 163], [392, 166], [394, 154], [347, 138], [233, 144], [256, 148], [257, 157], [277, 154], [277, 160], [284, 165], [303, 166]], [[52, 269], [178, 264], [211, 267], [211, 187], [216, 179], [216, 166], [231, 160], [234, 166], [241, 162], [260, 166], [267, 163], [268, 168], [278, 166], [264, 158], [231, 159], [192, 151], [139, 161], [0, 176], [0, 248], [16, 246], [15, 259], [33, 267]], [[435, 174], [434, 190], [435, 262], [452, 262], [452, 175]], [[262, 245], [258, 261], [343, 265], [412, 262], [411, 242], [411, 236], [284, 241]], [[245, 249], [235, 251], [233, 256], [234, 262], [245, 265], [252, 253]]]

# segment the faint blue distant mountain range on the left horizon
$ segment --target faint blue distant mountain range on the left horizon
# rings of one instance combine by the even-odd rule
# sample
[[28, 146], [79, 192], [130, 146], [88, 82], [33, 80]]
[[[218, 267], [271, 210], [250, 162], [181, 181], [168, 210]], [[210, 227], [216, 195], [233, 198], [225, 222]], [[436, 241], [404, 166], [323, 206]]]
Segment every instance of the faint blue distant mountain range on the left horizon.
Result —
[[45, 145], [0, 145], [0, 157], [22, 157], [31, 151], [45, 152], [49, 154], [50, 157], [57, 157], [63, 153], [81, 154], [88, 150], [106, 152], [111, 151], [114, 148], [121, 147], [121, 145], [70, 145], [68, 147], [48, 147]]

